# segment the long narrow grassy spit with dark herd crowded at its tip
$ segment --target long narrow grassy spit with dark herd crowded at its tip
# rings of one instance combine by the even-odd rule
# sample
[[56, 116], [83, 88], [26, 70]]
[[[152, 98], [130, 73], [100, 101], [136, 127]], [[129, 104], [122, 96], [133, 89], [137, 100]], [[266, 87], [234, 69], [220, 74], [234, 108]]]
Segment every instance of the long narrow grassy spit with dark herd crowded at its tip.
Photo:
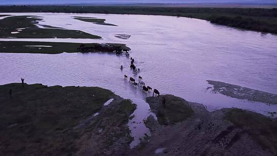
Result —
[[[81, 47], [80, 47], [81, 46]], [[0, 41], [0, 53], [47, 53], [58, 54], [63, 52], [114, 52], [115, 50], [130, 50], [125, 44], [81, 44], [63, 42], [25, 42]]]

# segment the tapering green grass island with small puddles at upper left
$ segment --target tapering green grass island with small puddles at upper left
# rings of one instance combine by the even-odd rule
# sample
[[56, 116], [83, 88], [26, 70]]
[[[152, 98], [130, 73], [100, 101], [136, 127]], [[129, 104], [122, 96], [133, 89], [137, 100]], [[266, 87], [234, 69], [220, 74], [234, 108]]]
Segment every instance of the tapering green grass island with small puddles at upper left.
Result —
[[[39, 28], [36, 25], [42, 18], [33, 16], [10, 16], [0, 19], [0, 37], [13, 38], [101, 38], [80, 30], [53, 29], [46, 26]], [[50, 29], [52, 28], [52, 29]]]

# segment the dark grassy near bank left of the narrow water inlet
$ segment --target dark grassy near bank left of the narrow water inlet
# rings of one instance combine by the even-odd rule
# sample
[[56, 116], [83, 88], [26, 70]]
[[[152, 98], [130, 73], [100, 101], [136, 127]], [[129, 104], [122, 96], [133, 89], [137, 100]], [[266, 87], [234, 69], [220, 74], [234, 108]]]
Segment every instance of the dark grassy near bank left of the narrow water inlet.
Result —
[[122, 155], [133, 140], [136, 106], [98, 87], [1, 85], [0, 107], [0, 155]]

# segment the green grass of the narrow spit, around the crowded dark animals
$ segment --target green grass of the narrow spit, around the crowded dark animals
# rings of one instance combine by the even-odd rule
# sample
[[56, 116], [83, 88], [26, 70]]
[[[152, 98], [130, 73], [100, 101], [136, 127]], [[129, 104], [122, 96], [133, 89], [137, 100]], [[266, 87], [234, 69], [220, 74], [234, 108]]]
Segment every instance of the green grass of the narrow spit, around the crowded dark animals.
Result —
[[[59, 42], [25, 42], [25, 41], [0, 41], [0, 52], [5, 53], [47, 53], [57, 54], [63, 52], [84, 52], [77, 50], [81, 43], [59, 43]], [[87, 47], [94, 47], [100, 44], [85, 44]], [[130, 49], [124, 44], [107, 44], [110, 46], [120, 46], [123, 49]], [[52, 47], [26, 47], [26, 46], [52, 46]], [[89, 52], [97, 52], [91, 50]], [[103, 50], [105, 52], [105, 50]]]

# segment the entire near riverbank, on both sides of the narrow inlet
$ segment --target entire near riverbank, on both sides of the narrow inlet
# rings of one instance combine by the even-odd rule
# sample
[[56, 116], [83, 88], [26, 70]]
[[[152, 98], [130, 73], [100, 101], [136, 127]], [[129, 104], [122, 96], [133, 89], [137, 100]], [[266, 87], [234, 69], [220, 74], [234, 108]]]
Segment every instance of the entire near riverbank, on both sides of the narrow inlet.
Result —
[[[11, 97], [9, 90], [11, 89]], [[0, 86], [2, 155], [275, 155], [276, 118], [213, 112], [174, 95], [147, 97], [151, 136], [130, 149], [135, 104], [98, 87]], [[165, 99], [165, 107], [163, 105]]]

